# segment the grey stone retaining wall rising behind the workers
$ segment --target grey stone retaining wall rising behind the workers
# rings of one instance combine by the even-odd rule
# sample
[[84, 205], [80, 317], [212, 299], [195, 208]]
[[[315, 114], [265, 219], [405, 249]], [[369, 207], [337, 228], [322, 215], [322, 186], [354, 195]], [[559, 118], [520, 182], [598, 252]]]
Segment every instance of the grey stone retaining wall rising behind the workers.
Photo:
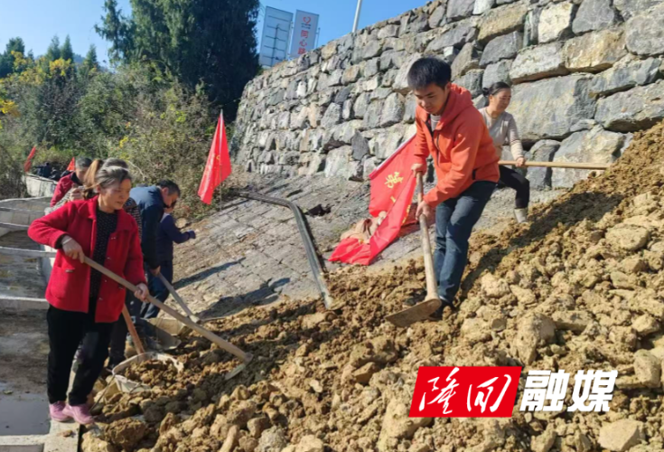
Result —
[[[422, 55], [470, 89], [514, 85], [533, 160], [612, 162], [664, 118], [664, 0], [437, 0], [250, 81], [234, 159], [248, 171], [366, 178], [415, 133], [407, 71]], [[586, 172], [530, 170], [535, 187]]]

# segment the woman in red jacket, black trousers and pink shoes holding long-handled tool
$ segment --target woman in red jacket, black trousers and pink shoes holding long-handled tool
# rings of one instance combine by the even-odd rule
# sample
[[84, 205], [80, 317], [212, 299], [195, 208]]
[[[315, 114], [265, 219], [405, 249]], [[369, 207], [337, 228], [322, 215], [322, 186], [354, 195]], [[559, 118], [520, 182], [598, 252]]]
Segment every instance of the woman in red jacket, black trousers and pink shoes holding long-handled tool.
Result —
[[[98, 171], [95, 184], [98, 196], [69, 202], [33, 221], [28, 230], [31, 239], [58, 250], [46, 288], [51, 304], [47, 314], [51, 419], [73, 418], [80, 424], [94, 421], [86, 400], [108, 357], [113, 324], [125, 306], [124, 287], [84, 264], [84, 257], [135, 284], [137, 298], [145, 300], [148, 293], [138, 227], [122, 210], [131, 175], [125, 168], [109, 166]], [[71, 363], [81, 340], [87, 353], [65, 405]]]

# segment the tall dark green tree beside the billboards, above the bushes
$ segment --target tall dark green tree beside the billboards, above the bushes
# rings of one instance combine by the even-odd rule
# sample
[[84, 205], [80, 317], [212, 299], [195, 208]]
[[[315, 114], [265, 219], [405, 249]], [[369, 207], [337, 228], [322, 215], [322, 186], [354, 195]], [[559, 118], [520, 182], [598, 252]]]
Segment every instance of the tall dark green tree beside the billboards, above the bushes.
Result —
[[256, 76], [258, 0], [132, 0], [132, 17], [107, 0], [98, 33], [114, 58], [147, 61], [192, 90], [204, 89], [235, 117], [242, 89]]

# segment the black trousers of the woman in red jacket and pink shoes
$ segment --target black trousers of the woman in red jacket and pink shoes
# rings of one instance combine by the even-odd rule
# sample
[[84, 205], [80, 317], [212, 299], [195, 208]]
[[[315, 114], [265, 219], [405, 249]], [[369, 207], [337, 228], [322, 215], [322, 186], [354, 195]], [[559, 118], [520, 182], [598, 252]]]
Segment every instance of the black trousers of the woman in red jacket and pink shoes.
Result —
[[82, 405], [97, 381], [108, 358], [108, 344], [114, 324], [95, 323], [94, 313], [63, 311], [50, 306], [46, 315], [49, 325], [47, 391], [49, 402], [67, 399], [71, 363], [83, 342], [83, 358], [70, 391], [70, 405]]

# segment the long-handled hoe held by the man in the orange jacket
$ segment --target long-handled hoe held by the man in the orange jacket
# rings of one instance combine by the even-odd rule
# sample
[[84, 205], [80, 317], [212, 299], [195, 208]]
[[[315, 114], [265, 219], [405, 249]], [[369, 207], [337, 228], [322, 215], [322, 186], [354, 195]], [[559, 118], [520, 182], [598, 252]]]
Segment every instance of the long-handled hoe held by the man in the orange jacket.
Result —
[[[417, 201], [424, 199], [424, 183], [422, 174], [417, 173]], [[435, 313], [443, 303], [438, 297], [438, 284], [435, 281], [434, 258], [431, 254], [431, 241], [429, 240], [429, 225], [426, 224], [426, 216], [419, 217], [420, 234], [422, 235], [422, 252], [425, 256], [425, 276], [426, 276], [426, 298], [422, 303], [416, 306], [408, 307], [396, 314], [388, 315], [386, 319], [392, 325], [406, 328], [409, 325], [421, 322], [429, 318], [429, 315]]]

